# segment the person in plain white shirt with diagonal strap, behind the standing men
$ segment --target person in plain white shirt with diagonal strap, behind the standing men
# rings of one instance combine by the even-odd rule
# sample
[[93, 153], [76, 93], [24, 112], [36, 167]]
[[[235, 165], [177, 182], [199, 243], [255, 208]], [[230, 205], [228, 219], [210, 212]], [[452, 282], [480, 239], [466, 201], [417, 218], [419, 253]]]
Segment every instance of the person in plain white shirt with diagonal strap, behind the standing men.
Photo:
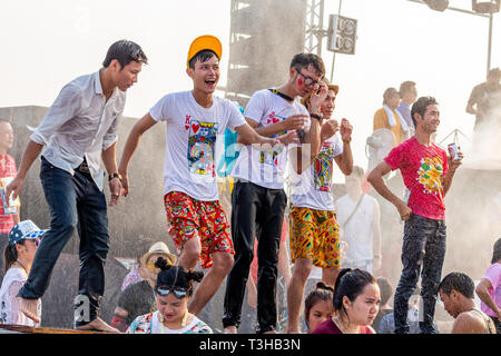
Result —
[[377, 200], [362, 191], [364, 169], [345, 177], [346, 195], [337, 199], [341, 239], [347, 244], [343, 267], [374, 274], [381, 267], [381, 222]]

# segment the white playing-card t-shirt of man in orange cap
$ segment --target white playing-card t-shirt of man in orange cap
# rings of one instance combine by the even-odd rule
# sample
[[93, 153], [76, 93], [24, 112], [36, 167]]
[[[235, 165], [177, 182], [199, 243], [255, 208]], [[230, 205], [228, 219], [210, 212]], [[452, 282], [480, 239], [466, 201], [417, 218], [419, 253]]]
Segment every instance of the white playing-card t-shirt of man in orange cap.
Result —
[[[218, 200], [216, 141], [246, 121], [229, 100], [213, 96], [210, 108], [199, 106], [191, 91], [169, 93], [149, 115], [166, 121], [164, 194], [181, 191], [202, 201]], [[219, 155], [220, 156], [220, 155]]]

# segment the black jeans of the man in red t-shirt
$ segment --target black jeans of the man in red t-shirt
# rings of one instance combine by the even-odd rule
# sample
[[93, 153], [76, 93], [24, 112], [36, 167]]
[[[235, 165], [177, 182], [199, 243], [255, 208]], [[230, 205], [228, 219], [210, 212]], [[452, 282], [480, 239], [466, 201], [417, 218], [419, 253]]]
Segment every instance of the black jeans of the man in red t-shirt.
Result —
[[402, 246], [402, 275], [395, 290], [395, 334], [409, 334], [409, 298], [418, 285], [420, 274], [423, 334], [438, 333], [433, 326], [438, 287], [445, 256], [445, 221], [411, 215], [405, 221]]

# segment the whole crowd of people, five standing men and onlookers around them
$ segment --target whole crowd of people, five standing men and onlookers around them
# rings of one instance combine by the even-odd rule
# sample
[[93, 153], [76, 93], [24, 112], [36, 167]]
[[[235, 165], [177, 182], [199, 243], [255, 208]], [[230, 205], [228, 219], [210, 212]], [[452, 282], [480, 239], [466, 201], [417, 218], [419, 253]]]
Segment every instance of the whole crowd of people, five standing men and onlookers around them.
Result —
[[[245, 301], [255, 306], [256, 333], [277, 333], [276, 286], [279, 259], [285, 254], [294, 265], [287, 276], [287, 334], [438, 333], [434, 313], [439, 295], [455, 318], [453, 333], [495, 333], [495, 328], [499, 333], [500, 240], [494, 245], [492, 266], [477, 289], [462, 273], [442, 279], [444, 197], [463, 155], [452, 159], [433, 142], [440, 123], [436, 99], [418, 98], [413, 81], [403, 82], [400, 91], [384, 91], [383, 108], [374, 115], [374, 130], [389, 129], [393, 148], [367, 176], [354, 166], [352, 123], [333, 118], [340, 87], [325, 79], [322, 58], [294, 56], [287, 80], [256, 91], [240, 110], [235, 102], [214, 95], [222, 51], [220, 41], [213, 36], [191, 42], [186, 72], [193, 89], [160, 98], [134, 125], [119, 164], [117, 130], [126, 91], [148, 62], [135, 42], [112, 43], [101, 69], [62, 88], [30, 136], [19, 171], [7, 155], [12, 128], [0, 122], [0, 174], [9, 177], [2, 181], [0, 207], [6, 271], [0, 290], [1, 323], [40, 325], [40, 300], [55, 264], [78, 231], [77, 330], [213, 333], [200, 316], [226, 279], [223, 332], [238, 333], [246, 322], [243, 316], [248, 317], [243, 315]], [[107, 209], [132, 189], [131, 158], [144, 134], [160, 121], [166, 126], [163, 198], [176, 254], [158, 241], [138, 257], [138, 266], [121, 285], [108, 324], [99, 317], [109, 249]], [[229, 219], [219, 201], [215, 164], [216, 140], [227, 129], [233, 137], [236, 134], [239, 147], [230, 170]], [[18, 210], [11, 211], [40, 154], [40, 179], [51, 219], [48, 230], [29, 219], [20, 221]], [[108, 202], [101, 162], [108, 174]], [[345, 176], [346, 187], [346, 195], [337, 201], [333, 195], [334, 162]], [[407, 189], [404, 197], [386, 185], [385, 177], [393, 170], [401, 172]], [[285, 176], [289, 179], [288, 195]], [[379, 199], [396, 208], [405, 224], [403, 269], [393, 309], [389, 306], [391, 285], [374, 277], [384, 250], [380, 206], [366, 194], [366, 181]], [[288, 246], [284, 239], [287, 226]], [[315, 270], [320, 281], [311, 288], [308, 279]], [[422, 317], [413, 312], [420, 303], [410, 303], [416, 290]], [[474, 304], [474, 290], [482, 300], [481, 309]], [[411, 330], [413, 322], [418, 323]]]

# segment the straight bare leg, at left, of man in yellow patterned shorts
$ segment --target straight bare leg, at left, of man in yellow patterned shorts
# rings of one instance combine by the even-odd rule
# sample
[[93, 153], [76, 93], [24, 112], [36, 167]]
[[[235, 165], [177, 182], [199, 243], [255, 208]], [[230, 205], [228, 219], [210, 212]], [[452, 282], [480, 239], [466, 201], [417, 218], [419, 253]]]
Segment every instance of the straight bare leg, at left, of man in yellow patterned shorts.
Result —
[[287, 334], [301, 334], [299, 313], [303, 301], [304, 286], [312, 271], [311, 258], [296, 258], [291, 283], [287, 287]]

